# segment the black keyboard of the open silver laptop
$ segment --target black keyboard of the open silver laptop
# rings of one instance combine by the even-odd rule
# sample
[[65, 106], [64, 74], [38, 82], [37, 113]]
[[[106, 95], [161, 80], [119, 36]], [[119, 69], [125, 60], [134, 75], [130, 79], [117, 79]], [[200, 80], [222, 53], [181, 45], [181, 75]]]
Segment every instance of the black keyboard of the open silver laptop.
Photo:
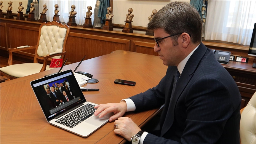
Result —
[[66, 127], [73, 128], [80, 124], [82, 121], [88, 119], [90, 116], [94, 114], [96, 109], [95, 105], [87, 103], [84, 106], [72, 111], [71, 113], [63, 116], [62, 118], [56, 120], [55, 122], [62, 124]]

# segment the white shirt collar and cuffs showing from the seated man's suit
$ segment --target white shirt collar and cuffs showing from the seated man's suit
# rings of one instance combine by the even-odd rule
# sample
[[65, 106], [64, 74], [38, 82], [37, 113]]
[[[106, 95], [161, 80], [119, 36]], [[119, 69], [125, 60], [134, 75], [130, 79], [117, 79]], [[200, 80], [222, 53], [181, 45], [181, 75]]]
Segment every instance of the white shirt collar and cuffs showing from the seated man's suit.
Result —
[[[199, 44], [199, 45], [200, 45], [200, 44]], [[198, 45], [195, 49], [193, 49], [193, 51], [190, 52], [190, 53], [188, 54], [188, 56], [185, 57], [185, 58], [178, 64], [177, 69], [178, 69], [178, 71], [180, 72], [180, 75], [181, 75], [181, 73], [182, 73], [182, 71], [183, 71], [183, 69], [184, 69], [186, 63], [188, 62], [188, 59], [189, 59], [189, 58], [191, 57], [191, 55], [196, 51], [196, 49], [199, 47], [199, 45]], [[134, 104], [134, 102], [132, 101], [132, 99], [127, 98], [127, 99], [122, 99], [121, 101], [125, 101], [125, 102], [126, 102], [126, 104], [127, 104], [127, 111], [135, 111], [136, 107], [135, 107], [135, 104]], [[143, 141], [144, 141], [144, 139], [145, 139], [145, 137], [146, 137], [147, 135], [148, 135], [148, 132], [143, 132], [143, 134], [142, 134], [141, 137], [140, 137], [140, 144], [143, 144]]]

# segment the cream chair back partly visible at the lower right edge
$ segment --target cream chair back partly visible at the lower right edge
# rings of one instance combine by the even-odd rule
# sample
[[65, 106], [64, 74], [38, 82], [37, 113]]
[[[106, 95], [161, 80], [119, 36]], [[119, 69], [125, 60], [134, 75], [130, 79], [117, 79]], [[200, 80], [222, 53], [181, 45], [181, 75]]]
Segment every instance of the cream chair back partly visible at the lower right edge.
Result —
[[241, 109], [241, 144], [256, 144], [256, 92], [244, 109]]

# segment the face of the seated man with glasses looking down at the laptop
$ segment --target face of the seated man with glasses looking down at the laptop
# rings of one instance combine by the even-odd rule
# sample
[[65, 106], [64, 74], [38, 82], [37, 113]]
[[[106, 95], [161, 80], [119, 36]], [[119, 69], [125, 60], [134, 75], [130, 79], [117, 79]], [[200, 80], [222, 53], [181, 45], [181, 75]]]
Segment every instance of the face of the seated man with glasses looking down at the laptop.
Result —
[[[154, 38], [161, 39], [169, 36], [163, 29], [154, 30]], [[178, 39], [179, 40], [179, 39]], [[181, 62], [181, 57], [183, 54], [183, 49], [180, 48], [180, 45], [173, 46], [173, 40], [171, 37], [165, 38], [158, 41], [159, 47], [157, 44], [154, 46], [154, 51], [158, 52], [159, 58], [163, 60], [164, 65], [178, 65]]]

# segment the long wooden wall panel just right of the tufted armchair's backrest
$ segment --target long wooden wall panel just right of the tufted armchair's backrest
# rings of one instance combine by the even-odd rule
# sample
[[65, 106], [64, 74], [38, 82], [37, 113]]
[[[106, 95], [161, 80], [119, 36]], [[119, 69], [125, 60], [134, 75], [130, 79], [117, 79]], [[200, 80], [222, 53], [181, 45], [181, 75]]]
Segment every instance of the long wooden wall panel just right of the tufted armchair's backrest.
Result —
[[85, 59], [90, 59], [119, 49], [129, 51], [129, 41], [127, 39], [71, 32], [66, 44], [66, 57], [69, 59], [69, 62], [76, 63], [84, 55], [86, 55]]

